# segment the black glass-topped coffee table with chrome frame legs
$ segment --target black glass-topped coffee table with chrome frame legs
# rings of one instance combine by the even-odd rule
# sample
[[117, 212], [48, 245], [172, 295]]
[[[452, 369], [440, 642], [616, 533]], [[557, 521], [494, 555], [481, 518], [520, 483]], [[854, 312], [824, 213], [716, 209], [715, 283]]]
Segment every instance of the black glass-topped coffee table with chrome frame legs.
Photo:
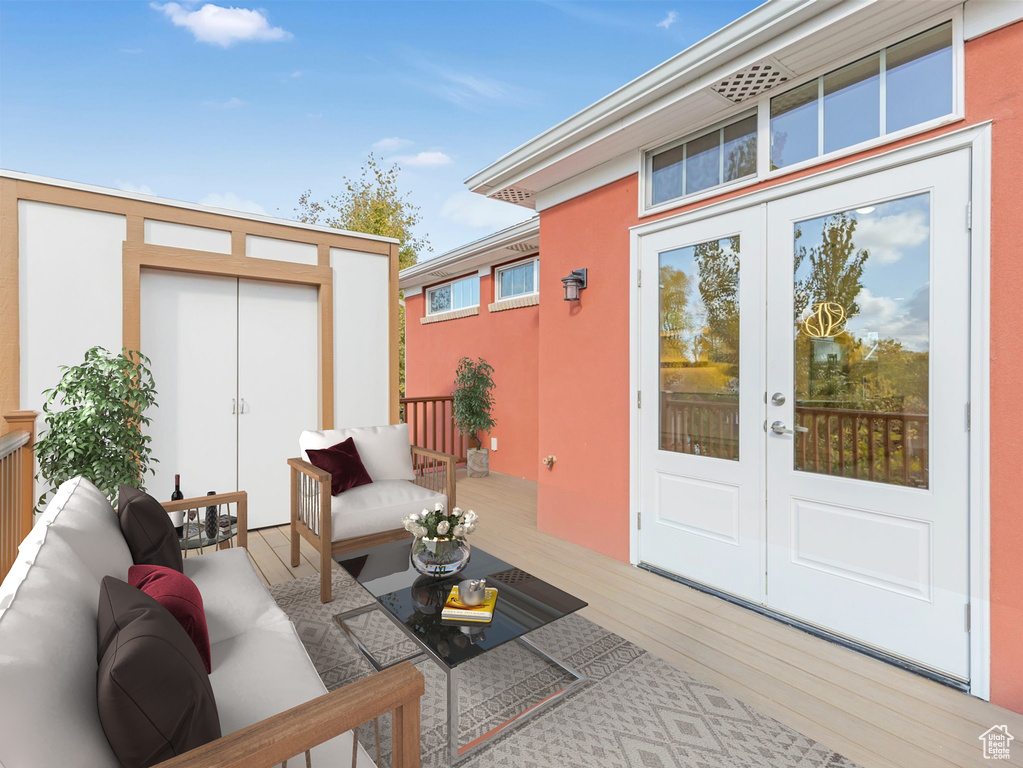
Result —
[[[409, 560], [410, 547], [411, 539], [405, 539], [335, 557], [338, 564], [376, 598], [375, 602], [341, 614], [336, 620], [377, 671], [420, 656], [429, 657], [441, 668], [447, 677], [448, 751], [453, 765], [464, 760], [487, 739], [522, 725], [586, 682], [583, 675], [525, 637], [535, 629], [585, 607], [586, 603], [478, 547], [473, 547], [469, 564], [461, 573], [444, 579], [421, 576]], [[493, 621], [474, 625], [442, 620], [441, 608], [451, 587], [463, 579], [484, 577], [487, 586], [497, 588]], [[390, 664], [381, 664], [374, 659], [349, 624], [351, 619], [372, 611], [380, 611], [390, 619], [419, 651]], [[461, 665], [510, 641], [521, 643], [557, 665], [573, 679], [560, 690], [460, 747], [458, 678], [463, 671]]]

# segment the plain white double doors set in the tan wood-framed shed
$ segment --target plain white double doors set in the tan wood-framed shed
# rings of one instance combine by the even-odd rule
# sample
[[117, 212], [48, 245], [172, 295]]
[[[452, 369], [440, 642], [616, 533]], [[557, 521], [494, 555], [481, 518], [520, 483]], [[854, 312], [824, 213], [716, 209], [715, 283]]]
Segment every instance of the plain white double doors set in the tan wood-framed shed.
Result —
[[316, 288], [142, 270], [140, 342], [159, 408], [149, 492], [249, 493], [249, 527], [290, 515], [286, 459], [318, 424]]

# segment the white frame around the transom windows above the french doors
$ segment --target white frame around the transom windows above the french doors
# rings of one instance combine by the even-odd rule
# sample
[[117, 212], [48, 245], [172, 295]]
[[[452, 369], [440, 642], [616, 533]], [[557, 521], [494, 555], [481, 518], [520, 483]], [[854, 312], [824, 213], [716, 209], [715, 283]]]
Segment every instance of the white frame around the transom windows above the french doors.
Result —
[[[868, 139], [866, 141], [861, 141], [858, 144], [852, 144], [850, 146], [842, 147], [841, 149], [836, 149], [834, 151], [828, 152], [827, 154], [818, 154], [814, 157], [802, 161], [800, 163], [793, 163], [791, 166], [785, 166], [784, 168], [779, 168], [773, 171], [770, 170], [770, 100], [771, 98], [785, 93], [793, 88], [798, 88], [805, 83], [817, 80], [818, 78], [827, 75], [836, 70], [840, 70], [846, 64], [850, 64], [853, 61], [857, 61], [864, 56], [869, 56], [874, 53], [879, 53], [885, 48], [890, 48], [891, 46], [901, 43], [904, 40], [919, 35], [922, 32], [926, 32], [933, 27], [938, 27], [947, 21], [951, 21], [952, 25], [952, 111], [948, 115], [934, 118], [926, 123], [918, 123], [917, 125], [909, 126], [908, 128], [903, 128], [900, 131], [893, 133], [884, 134], [882, 136], [876, 136], [875, 138]], [[918, 24], [911, 25], [909, 27], [902, 28], [896, 33], [887, 35], [880, 40], [862, 46], [855, 51], [851, 52], [846, 56], [841, 58], [836, 58], [834, 61], [829, 62], [826, 66], [818, 67], [791, 80], [787, 80], [784, 84], [770, 88], [765, 91], [760, 96], [748, 99], [741, 104], [736, 104], [728, 108], [726, 111], [720, 112], [713, 122], [708, 122], [696, 130], [686, 131], [682, 136], [675, 135], [675, 137], [666, 140], [665, 138], [660, 138], [657, 141], [653, 141], [644, 146], [639, 147], [638, 157], [639, 157], [639, 194], [637, 195], [638, 200], [638, 213], [639, 216], [647, 217], [654, 214], [659, 214], [665, 211], [672, 211], [674, 209], [680, 208], [682, 206], [688, 206], [694, 202], [699, 202], [701, 200], [709, 199], [711, 197], [717, 197], [725, 192], [731, 192], [735, 190], [743, 189], [744, 187], [750, 187], [755, 184], [759, 184], [764, 181], [770, 181], [783, 176], [789, 176], [790, 174], [796, 173], [798, 171], [812, 168], [814, 166], [820, 166], [826, 163], [831, 163], [832, 161], [844, 157], [850, 154], [856, 154], [857, 152], [866, 151], [873, 149], [874, 147], [883, 146], [885, 144], [891, 144], [893, 142], [899, 141], [909, 136], [915, 136], [917, 134], [926, 133], [927, 131], [934, 130], [935, 128], [940, 128], [941, 126], [949, 125], [951, 123], [959, 123], [966, 118], [966, 96], [965, 96], [965, 82], [966, 82], [966, 63], [965, 63], [965, 52], [964, 52], [964, 37], [963, 37], [963, 7], [955, 6], [954, 8], [947, 9], [941, 13], [936, 13], [929, 18], [920, 21]], [[678, 146], [686, 141], [692, 141], [695, 138], [699, 138], [715, 128], [721, 128], [725, 125], [735, 123], [746, 117], [748, 112], [755, 110], [757, 112], [757, 173], [753, 176], [746, 176], [742, 179], [736, 179], [735, 181], [729, 181], [724, 184], [719, 184], [715, 187], [710, 187], [709, 189], [702, 189], [699, 192], [694, 192], [693, 194], [683, 194], [681, 197], [675, 197], [664, 202], [659, 202], [656, 206], [652, 205], [651, 197], [653, 194], [653, 155], [664, 151], [666, 149], [671, 149], [672, 147]]]

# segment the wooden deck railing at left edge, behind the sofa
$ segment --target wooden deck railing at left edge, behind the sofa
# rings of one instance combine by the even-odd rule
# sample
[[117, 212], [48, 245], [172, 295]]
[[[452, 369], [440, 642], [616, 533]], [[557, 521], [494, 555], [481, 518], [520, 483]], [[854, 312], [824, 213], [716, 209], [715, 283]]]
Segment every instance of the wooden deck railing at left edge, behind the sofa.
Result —
[[36, 505], [36, 412], [4, 415], [0, 438], [0, 580], [17, 557], [17, 547], [32, 530]]

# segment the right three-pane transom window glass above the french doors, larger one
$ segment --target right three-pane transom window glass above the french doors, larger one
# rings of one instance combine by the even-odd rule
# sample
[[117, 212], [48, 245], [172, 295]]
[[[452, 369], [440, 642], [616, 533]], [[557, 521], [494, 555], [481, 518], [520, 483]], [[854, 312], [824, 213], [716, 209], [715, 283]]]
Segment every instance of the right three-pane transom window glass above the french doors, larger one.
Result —
[[953, 108], [948, 22], [772, 98], [771, 170], [944, 117]]

